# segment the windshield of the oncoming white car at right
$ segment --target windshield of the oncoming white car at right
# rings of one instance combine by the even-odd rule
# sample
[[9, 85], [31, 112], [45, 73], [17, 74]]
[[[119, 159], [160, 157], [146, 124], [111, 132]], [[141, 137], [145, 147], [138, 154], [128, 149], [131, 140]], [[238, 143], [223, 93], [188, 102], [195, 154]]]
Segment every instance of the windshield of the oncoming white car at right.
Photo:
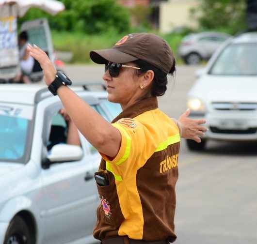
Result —
[[257, 76], [257, 45], [226, 46], [209, 71], [210, 75]]

